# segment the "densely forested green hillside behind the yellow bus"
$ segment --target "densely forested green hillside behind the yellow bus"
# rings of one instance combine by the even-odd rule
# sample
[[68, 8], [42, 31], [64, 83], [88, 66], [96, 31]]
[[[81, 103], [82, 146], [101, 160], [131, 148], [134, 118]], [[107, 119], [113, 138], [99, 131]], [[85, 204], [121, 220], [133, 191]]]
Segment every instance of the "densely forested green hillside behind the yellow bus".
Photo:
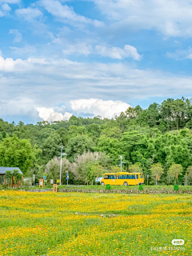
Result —
[[[142, 170], [150, 174], [151, 184], [157, 163], [163, 170], [159, 182], [174, 182], [178, 175], [182, 183], [186, 172], [190, 178], [192, 166], [192, 101], [169, 98], [146, 110], [130, 107], [114, 119], [72, 116], [69, 121], [35, 125], [0, 119], [0, 166], [18, 166], [28, 176], [39, 178], [46, 172], [57, 178], [60, 160], [55, 157], [61, 145], [67, 154], [62, 182], [67, 169], [70, 182], [76, 183], [92, 182], [106, 170], [117, 171], [122, 155], [123, 170]], [[182, 171], [171, 173], [173, 164]]]

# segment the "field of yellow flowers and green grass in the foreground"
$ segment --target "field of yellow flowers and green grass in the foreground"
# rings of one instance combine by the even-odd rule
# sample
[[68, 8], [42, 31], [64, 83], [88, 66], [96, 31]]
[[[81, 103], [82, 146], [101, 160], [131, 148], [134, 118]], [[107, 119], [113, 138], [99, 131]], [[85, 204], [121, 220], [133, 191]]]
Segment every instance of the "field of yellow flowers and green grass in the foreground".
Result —
[[0, 191], [0, 255], [191, 254], [189, 194]]

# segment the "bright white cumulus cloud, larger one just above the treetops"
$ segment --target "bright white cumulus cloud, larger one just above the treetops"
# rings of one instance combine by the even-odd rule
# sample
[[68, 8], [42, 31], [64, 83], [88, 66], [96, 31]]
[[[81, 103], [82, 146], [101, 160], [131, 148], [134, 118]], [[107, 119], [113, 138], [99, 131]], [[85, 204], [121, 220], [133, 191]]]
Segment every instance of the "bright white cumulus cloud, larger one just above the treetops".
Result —
[[121, 101], [103, 101], [98, 98], [78, 99], [70, 102], [72, 110], [77, 113], [89, 113], [102, 118], [114, 118], [115, 114], [126, 111], [130, 106]]

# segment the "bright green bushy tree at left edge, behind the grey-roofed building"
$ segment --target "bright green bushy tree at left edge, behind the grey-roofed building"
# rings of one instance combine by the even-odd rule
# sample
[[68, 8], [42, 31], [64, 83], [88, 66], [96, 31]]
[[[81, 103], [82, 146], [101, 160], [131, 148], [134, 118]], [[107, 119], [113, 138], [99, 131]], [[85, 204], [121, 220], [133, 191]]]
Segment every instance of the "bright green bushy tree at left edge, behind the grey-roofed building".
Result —
[[25, 174], [33, 166], [35, 156], [39, 153], [36, 146], [32, 148], [30, 141], [7, 137], [0, 143], [0, 166], [19, 167]]

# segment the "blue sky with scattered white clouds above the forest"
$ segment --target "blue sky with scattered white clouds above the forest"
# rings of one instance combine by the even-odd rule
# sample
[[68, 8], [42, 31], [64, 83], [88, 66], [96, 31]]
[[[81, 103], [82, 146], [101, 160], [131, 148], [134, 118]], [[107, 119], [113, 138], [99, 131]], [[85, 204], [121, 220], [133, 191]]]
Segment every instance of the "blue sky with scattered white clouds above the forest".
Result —
[[192, 0], [0, 0], [0, 118], [113, 118], [192, 97]]

